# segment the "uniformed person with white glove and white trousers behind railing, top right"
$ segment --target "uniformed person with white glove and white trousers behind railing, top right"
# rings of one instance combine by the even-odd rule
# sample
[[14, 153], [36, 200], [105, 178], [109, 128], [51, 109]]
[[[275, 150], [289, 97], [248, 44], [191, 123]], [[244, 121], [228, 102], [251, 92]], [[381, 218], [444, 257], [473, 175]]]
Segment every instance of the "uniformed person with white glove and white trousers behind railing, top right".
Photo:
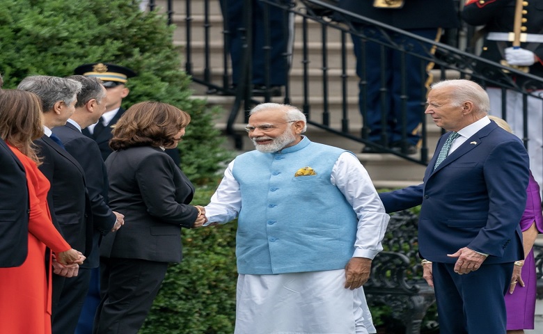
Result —
[[[519, 45], [515, 47], [515, 7], [518, 0], [466, 0], [462, 17], [473, 26], [485, 26], [485, 42], [482, 45], [482, 58], [510, 65], [537, 77], [543, 77], [543, 0], [520, 1], [518, 29]], [[485, 73], [488, 79], [499, 79], [485, 63], [478, 63], [478, 72]], [[540, 81], [526, 80], [522, 76], [512, 77], [519, 86], [527, 86], [533, 95], [543, 96]], [[507, 105], [502, 115], [501, 88], [487, 84], [490, 97], [490, 114], [503, 118], [520, 138], [524, 137], [523, 95], [507, 90]], [[528, 97], [528, 155], [533, 177], [543, 186], [543, 104], [537, 97]]]

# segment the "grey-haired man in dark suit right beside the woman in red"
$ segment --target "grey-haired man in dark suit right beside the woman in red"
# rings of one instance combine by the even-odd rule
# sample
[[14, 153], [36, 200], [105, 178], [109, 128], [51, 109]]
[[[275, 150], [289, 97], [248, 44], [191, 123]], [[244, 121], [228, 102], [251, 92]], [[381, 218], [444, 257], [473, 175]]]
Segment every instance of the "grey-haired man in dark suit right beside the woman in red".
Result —
[[[53, 223], [70, 246], [88, 258], [93, 248], [93, 214], [86, 189], [85, 171], [68, 153], [51, 129], [66, 124], [72, 116], [81, 84], [72, 79], [37, 75], [26, 77], [17, 87], [35, 93], [42, 100], [44, 136], [35, 141], [42, 157], [41, 172], [51, 182], [47, 202]], [[52, 297], [53, 333], [74, 333], [88, 285], [73, 285], [72, 276], [65, 275], [53, 262]], [[74, 300], [73, 296], [80, 296]], [[70, 328], [58, 324], [72, 324]]]

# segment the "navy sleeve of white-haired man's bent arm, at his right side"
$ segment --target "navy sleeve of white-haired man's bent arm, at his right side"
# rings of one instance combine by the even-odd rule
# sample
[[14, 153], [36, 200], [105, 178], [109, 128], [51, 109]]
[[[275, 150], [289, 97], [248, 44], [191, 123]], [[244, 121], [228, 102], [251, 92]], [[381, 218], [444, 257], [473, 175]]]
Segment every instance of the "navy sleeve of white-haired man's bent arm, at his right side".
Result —
[[484, 166], [488, 221], [468, 248], [498, 257], [503, 255], [504, 247], [499, 241], [514, 236], [526, 207], [528, 166], [528, 153], [520, 141], [505, 141], [490, 152]]

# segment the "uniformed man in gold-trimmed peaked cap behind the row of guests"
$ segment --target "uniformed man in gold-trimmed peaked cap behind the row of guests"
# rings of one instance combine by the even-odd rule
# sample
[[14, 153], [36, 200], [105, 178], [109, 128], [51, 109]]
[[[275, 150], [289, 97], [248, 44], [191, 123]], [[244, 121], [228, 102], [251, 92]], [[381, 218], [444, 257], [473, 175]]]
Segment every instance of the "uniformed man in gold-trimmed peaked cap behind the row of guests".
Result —
[[[84, 75], [88, 77], [97, 77], [103, 81], [103, 85], [107, 90], [107, 106], [106, 112], [95, 125], [91, 125], [83, 129], [83, 133], [93, 138], [102, 153], [102, 159], [107, 159], [111, 153], [109, 148], [109, 140], [113, 136], [111, 134], [112, 127], [116, 124], [125, 109], [121, 106], [123, 99], [130, 93], [126, 83], [129, 78], [136, 77], [136, 72], [128, 67], [111, 64], [111, 63], [90, 63], [77, 67], [74, 74]], [[177, 148], [166, 150], [166, 153], [179, 166], [180, 157]]]

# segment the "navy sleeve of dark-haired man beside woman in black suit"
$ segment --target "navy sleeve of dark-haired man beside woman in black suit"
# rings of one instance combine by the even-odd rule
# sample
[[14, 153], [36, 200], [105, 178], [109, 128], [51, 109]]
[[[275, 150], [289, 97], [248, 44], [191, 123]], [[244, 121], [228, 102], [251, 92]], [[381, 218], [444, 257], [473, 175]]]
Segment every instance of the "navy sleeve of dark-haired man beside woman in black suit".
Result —
[[107, 176], [100, 148], [92, 139], [77, 137], [64, 143], [85, 171], [88, 196], [91, 199], [94, 228], [102, 235], [107, 234], [115, 225], [116, 216], [107, 205], [104, 193], [107, 191]]

